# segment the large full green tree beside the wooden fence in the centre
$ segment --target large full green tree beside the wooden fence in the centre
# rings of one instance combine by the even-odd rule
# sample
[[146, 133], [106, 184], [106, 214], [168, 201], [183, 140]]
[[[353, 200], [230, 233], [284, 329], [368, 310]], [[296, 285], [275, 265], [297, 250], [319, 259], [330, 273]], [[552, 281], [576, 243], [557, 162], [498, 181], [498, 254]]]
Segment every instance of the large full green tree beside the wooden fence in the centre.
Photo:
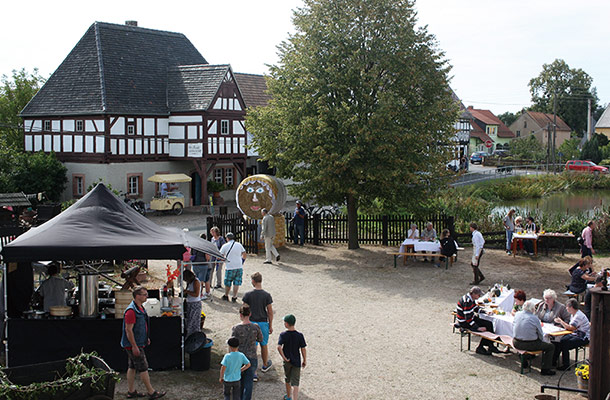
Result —
[[449, 158], [449, 66], [413, 5], [305, 0], [270, 66], [272, 100], [247, 115], [253, 146], [298, 182], [293, 193], [347, 204], [350, 249], [359, 207], [421, 201]]

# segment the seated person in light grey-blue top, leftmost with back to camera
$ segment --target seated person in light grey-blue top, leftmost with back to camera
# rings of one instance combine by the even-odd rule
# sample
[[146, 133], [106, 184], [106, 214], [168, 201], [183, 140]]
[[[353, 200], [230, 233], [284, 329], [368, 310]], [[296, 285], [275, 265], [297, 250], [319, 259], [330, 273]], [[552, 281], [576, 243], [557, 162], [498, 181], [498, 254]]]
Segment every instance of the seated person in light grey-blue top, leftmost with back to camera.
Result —
[[523, 304], [523, 311], [519, 311], [515, 315], [513, 345], [517, 350], [542, 350], [542, 369], [540, 375], [555, 375], [555, 371], [551, 370], [555, 346], [550, 342], [542, 340], [544, 334], [542, 333], [540, 320], [534, 315], [535, 310], [536, 303], [529, 300]]

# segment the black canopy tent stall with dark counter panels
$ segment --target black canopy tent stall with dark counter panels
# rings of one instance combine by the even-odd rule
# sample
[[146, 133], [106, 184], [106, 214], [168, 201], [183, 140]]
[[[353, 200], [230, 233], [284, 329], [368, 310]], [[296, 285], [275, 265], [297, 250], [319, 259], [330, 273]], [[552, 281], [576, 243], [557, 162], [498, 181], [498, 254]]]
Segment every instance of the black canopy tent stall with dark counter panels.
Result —
[[[115, 370], [127, 369], [127, 359], [119, 344], [120, 319], [91, 316], [65, 320], [22, 318], [33, 291], [32, 262], [181, 260], [185, 247], [223, 258], [212, 243], [149, 221], [103, 184], [62, 214], [6, 245], [2, 255], [7, 278], [4, 280], [8, 311], [7, 366], [62, 359], [78, 354], [83, 348], [97, 351]], [[147, 349], [151, 368], [176, 368], [181, 366], [181, 361], [184, 365], [183, 325], [182, 316], [151, 318], [151, 346]]]

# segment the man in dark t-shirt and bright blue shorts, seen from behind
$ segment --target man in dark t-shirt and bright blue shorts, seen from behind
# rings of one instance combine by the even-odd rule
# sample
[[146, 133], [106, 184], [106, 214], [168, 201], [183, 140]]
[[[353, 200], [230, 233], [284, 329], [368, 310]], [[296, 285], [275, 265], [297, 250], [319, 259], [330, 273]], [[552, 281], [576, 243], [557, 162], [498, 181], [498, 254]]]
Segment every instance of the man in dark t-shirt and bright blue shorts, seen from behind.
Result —
[[250, 320], [260, 326], [263, 333], [263, 341], [261, 345], [261, 358], [263, 365], [261, 371], [267, 372], [271, 368], [271, 360], [269, 360], [269, 334], [273, 333], [273, 299], [271, 295], [263, 290], [263, 276], [260, 272], [252, 274], [252, 286], [254, 290], [249, 291], [244, 295], [244, 304], [250, 306], [252, 316]]

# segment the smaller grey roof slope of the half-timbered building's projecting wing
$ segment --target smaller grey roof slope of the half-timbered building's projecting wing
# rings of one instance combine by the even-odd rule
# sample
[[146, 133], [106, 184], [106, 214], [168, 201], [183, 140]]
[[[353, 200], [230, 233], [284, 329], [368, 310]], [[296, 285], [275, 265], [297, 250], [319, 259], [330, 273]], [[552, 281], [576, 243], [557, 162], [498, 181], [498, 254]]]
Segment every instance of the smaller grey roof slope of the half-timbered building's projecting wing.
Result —
[[167, 74], [167, 104], [171, 112], [207, 110], [229, 65], [172, 67]]

